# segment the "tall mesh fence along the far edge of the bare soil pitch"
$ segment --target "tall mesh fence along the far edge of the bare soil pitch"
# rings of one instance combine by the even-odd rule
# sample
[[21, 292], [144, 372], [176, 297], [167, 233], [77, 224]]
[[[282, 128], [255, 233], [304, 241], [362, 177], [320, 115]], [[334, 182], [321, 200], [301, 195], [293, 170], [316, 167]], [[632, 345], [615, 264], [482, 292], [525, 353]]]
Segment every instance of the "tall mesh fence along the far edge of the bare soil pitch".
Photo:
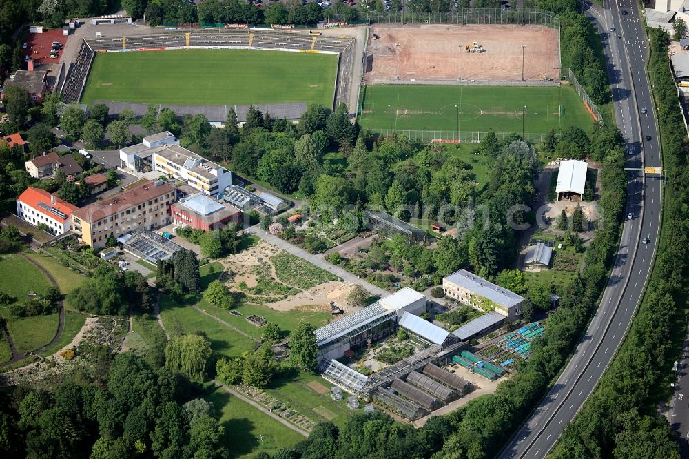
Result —
[[362, 19], [374, 23], [540, 25], [559, 30], [559, 15], [546, 10], [520, 8], [462, 8], [453, 12], [369, 11]]

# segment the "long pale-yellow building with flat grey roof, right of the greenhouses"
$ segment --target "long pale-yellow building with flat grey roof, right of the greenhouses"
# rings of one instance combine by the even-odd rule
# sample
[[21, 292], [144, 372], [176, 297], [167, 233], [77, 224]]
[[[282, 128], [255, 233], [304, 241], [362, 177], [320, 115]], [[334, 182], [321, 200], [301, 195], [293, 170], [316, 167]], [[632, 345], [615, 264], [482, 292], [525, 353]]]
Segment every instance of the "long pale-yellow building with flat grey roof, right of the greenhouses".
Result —
[[495, 311], [508, 320], [515, 320], [520, 315], [524, 303], [524, 297], [466, 269], [442, 278], [442, 289], [449, 298], [475, 309]]

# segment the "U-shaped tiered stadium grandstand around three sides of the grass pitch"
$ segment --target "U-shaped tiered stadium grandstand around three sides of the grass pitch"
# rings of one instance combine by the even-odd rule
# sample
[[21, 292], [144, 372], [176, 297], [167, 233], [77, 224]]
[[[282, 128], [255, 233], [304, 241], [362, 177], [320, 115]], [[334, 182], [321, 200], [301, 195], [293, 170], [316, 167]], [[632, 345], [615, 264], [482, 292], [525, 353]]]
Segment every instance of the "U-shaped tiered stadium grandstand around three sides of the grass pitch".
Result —
[[181, 50], [189, 48], [240, 48], [338, 54], [338, 77], [335, 105], [347, 103], [352, 83], [354, 39], [312, 37], [307, 34], [253, 30], [223, 32], [178, 31], [133, 37], [94, 37], [83, 39], [76, 60], [70, 65], [62, 88], [63, 101], [76, 103], [81, 99], [95, 52]]

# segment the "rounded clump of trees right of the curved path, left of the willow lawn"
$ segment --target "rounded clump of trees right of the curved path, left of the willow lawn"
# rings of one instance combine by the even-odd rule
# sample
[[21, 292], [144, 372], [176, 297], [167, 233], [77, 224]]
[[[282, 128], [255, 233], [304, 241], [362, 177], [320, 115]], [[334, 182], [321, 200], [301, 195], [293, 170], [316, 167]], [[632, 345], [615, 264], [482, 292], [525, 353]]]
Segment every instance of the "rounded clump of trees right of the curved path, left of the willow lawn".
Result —
[[123, 315], [130, 307], [151, 312], [153, 307], [152, 292], [140, 272], [121, 272], [107, 263], [100, 263], [92, 278], [72, 290], [65, 301], [79, 311], [104, 315]]

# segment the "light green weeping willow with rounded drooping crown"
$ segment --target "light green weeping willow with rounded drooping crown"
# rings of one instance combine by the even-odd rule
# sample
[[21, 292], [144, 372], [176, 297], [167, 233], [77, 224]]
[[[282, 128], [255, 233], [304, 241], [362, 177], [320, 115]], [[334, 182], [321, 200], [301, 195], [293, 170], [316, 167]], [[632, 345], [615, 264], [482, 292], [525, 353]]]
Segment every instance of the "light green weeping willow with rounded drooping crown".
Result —
[[211, 353], [211, 343], [205, 336], [176, 336], [165, 346], [165, 367], [200, 383], [207, 376]]

